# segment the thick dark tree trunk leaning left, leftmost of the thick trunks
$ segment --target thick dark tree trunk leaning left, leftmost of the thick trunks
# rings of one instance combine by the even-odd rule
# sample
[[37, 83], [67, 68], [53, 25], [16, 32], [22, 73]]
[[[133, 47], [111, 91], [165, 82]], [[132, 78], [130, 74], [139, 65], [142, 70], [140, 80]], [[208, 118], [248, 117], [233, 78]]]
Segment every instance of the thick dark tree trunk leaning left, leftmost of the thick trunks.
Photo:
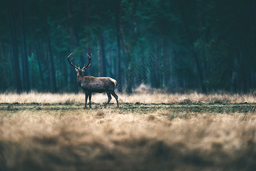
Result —
[[10, 27], [11, 51], [13, 53], [14, 82], [15, 82], [15, 88], [17, 92], [20, 93], [22, 91], [22, 85], [21, 85], [21, 76], [19, 75], [20, 67], [19, 67], [17, 37], [14, 30], [13, 12], [11, 10], [10, 2], [6, 0], [6, 4], [7, 4], [9, 27]]

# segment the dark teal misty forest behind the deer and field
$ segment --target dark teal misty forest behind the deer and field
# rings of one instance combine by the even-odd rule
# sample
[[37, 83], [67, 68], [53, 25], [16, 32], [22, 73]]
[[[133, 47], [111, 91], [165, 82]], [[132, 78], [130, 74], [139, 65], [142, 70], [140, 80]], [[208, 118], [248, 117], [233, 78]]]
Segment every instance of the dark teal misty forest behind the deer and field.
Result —
[[0, 91], [78, 92], [76, 71], [117, 89], [256, 87], [253, 0], [0, 1]]

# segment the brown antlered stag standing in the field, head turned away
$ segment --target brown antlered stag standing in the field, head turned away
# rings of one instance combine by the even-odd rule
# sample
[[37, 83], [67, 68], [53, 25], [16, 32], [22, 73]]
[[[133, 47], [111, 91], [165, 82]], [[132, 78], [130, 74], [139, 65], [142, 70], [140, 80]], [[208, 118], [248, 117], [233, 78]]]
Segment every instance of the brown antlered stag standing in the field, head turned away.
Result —
[[91, 56], [87, 54], [88, 56], [88, 64], [84, 64], [84, 67], [80, 69], [79, 65], [76, 67], [72, 63], [72, 59], [70, 60], [70, 56], [73, 53], [71, 53], [69, 56], [67, 56], [68, 63], [72, 67], [75, 68], [76, 72], [78, 72], [78, 86], [82, 87], [83, 91], [86, 93], [86, 104], [84, 105], [84, 108], [87, 108], [87, 99], [89, 96], [89, 105], [91, 108], [91, 97], [92, 97], [92, 92], [97, 92], [97, 93], [102, 93], [106, 92], [108, 96], [108, 101], [107, 104], [105, 104], [105, 107], [107, 107], [109, 101], [112, 99], [111, 95], [115, 97], [116, 103], [117, 103], [117, 108], [119, 108], [119, 101], [118, 101], [118, 96], [115, 93], [115, 86], [117, 84], [115, 79], [109, 78], [109, 77], [94, 77], [94, 76], [84, 76], [83, 73], [87, 70], [88, 67], [91, 66], [91, 59], [92, 59], [92, 54]]

